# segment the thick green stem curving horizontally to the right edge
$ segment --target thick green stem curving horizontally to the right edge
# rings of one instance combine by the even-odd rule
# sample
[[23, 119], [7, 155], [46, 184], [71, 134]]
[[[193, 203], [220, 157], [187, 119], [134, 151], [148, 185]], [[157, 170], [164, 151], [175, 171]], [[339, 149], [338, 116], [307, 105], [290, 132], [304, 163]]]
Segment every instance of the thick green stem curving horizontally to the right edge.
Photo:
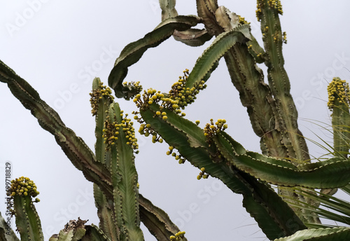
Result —
[[345, 186], [350, 181], [349, 162], [342, 158], [330, 158], [296, 167], [286, 160], [262, 157], [258, 153], [237, 155], [234, 147], [230, 146], [230, 137], [221, 135], [221, 132], [213, 139], [222, 155], [237, 169], [271, 184], [335, 188]]

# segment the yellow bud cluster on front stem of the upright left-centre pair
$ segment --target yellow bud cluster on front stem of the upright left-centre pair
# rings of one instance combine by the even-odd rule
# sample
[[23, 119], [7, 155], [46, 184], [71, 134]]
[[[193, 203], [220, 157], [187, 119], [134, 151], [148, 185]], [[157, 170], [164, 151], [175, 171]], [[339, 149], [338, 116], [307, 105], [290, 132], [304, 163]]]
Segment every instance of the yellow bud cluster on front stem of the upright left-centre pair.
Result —
[[[123, 112], [120, 111], [120, 116], [123, 118]], [[134, 123], [127, 118], [127, 114], [122, 119], [121, 123], [113, 122], [111, 123], [109, 116], [107, 116], [106, 121], [104, 122], [104, 143], [106, 144], [106, 150], [111, 149], [111, 146], [116, 144], [116, 140], [118, 140], [118, 135], [120, 131], [125, 133], [125, 138], [127, 139], [126, 144], [132, 146], [132, 149], [139, 149], [139, 144], [137, 144], [137, 138], [135, 138], [135, 129]], [[139, 151], [136, 151], [139, 153]]]

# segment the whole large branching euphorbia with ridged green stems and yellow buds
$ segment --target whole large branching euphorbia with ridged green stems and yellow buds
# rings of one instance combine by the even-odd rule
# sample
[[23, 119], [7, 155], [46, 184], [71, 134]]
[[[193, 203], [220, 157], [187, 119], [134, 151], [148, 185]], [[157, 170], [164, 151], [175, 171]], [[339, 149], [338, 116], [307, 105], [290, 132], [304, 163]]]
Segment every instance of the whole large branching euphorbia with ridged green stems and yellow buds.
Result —
[[[137, 105], [134, 119], [141, 123], [141, 135], [152, 136], [153, 142], [167, 142], [167, 154], [174, 156], [179, 163], [188, 161], [200, 169], [197, 179], [209, 176], [220, 179], [232, 192], [243, 195], [246, 211], [270, 240], [280, 237], [284, 237], [281, 240], [293, 240], [298, 235], [297, 240], [311, 237], [314, 240], [349, 239], [349, 228], [321, 226], [314, 200], [323, 196], [307, 189], [321, 188], [321, 193], [324, 193], [325, 189], [349, 184], [349, 146], [339, 149], [335, 144], [335, 153], [341, 155], [310, 163], [306, 142], [297, 128], [297, 111], [283, 67], [282, 45], [286, 43], [286, 34], [279, 22], [279, 15], [283, 13], [281, 2], [258, 1], [256, 14], [261, 22], [264, 46], [256, 41], [244, 18], [219, 7], [216, 1], [198, 0], [198, 16], [178, 15], [175, 1], [160, 1], [160, 6], [160, 25], [144, 38], [127, 45], [109, 76], [109, 86], [116, 97], [133, 99]], [[200, 23], [205, 29], [193, 28]], [[213, 36], [215, 40], [198, 58], [193, 69], [184, 71], [184, 76], [171, 86], [169, 92], [155, 88], [141, 91], [139, 83], [123, 82], [128, 67], [135, 64], [148, 48], [158, 46], [170, 36], [189, 46], [200, 46]], [[232, 83], [239, 91], [241, 104], [248, 111], [253, 131], [260, 137], [262, 154], [246, 151], [228, 135], [225, 132], [228, 124], [224, 119], [208, 120], [207, 124], [200, 125], [197, 121], [188, 121], [183, 113], [183, 109], [201, 95], [221, 57], [224, 57]], [[258, 63], [266, 65], [268, 83], [264, 82]], [[55, 136], [71, 163], [94, 183], [99, 227], [85, 226], [80, 220], [71, 221], [59, 234], [52, 235], [51, 240], [143, 240], [140, 221], [158, 240], [186, 240], [183, 231], [162, 209], [139, 194], [134, 166], [138, 145], [132, 119], [120, 110], [111, 90], [99, 78], [92, 83], [90, 101], [96, 119], [94, 153], [80, 137], [66, 128], [57, 112], [43, 102], [36, 90], [3, 62], [0, 78], [31, 110], [41, 127]], [[342, 103], [333, 104], [342, 106], [340, 111], [333, 108], [334, 126], [346, 119], [346, 114], [349, 115], [348, 102], [342, 100], [347, 98], [347, 93], [340, 95], [338, 92], [335, 90], [332, 94], [339, 95], [340, 99], [336, 96], [335, 100]], [[343, 129], [338, 130], [335, 140], [339, 140], [342, 136], [339, 133], [343, 132]], [[279, 193], [270, 184], [279, 186]], [[295, 186], [302, 188], [289, 188]], [[25, 191], [14, 193], [9, 193], [14, 199], [25, 198], [21, 194]], [[21, 208], [21, 205], [14, 207], [16, 219], [29, 220], [22, 223], [27, 228], [18, 228], [21, 239], [42, 240], [35, 209], [29, 208], [29, 213]], [[309, 229], [308, 226], [319, 228]], [[16, 240], [13, 233], [2, 237]]]

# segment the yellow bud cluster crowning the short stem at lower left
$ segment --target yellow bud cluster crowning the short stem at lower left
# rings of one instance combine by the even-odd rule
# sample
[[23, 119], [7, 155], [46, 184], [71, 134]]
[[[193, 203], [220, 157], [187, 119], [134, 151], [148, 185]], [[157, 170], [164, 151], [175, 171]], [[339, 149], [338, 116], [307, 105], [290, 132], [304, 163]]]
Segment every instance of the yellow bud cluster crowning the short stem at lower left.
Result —
[[[39, 192], [36, 190], [34, 181], [31, 181], [29, 177], [20, 177], [11, 181], [11, 187], [8, 190], [7, 195], [14, 197], [15, 195], [23, 195], [35, 198]], [[34, 202], [39, 202], [38, 198]]]

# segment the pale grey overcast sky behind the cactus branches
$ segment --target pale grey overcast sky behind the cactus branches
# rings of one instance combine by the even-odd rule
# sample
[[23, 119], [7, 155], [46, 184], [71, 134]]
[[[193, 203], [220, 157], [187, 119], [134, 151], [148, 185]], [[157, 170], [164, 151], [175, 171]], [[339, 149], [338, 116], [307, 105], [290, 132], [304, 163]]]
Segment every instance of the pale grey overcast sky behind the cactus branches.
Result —
[[[253, 34], [260, 39], [256, 1], [226, 0], [218, 4], [246, 17]], [[305, 119], [329, 124], [327, 83], [333, 76], [350, 80], [350, 1], [294, 0], [282, 1], [282, 5], [282, 29], [288, 39], [283, 54], [300, 129], [316, 141], [319, 140], [313, 132], [331, 141], [327, 132]], [[197, 14], [195, 1], [178, 1], [176, 9], [181, 15]], [[159, 24], [158, 1], [2, 0], [0, 15], [0, 60], [25, 78], [59, 113], [66, 126], [94, 149], [94, 118], [88, 95], [92, 79], [98, 76], [107, 83], [114, 61], [127, 43], [137, 41]], [[209, 43], [193, 48], [168, 39], [130, 67], [125, 80], [141, 81], [145, 89], [167, 92], [183, 69], [193, 68], [207, 46]], [[200, 120], [201, 127], [210, 118], [225, 118], [233, 138], [248, 150], [260, 151], [259, 139], [251, 130], [225, 62], [220, 62], [207, 84], [207, 90], [185, 110], [186, 118]], [[54, 137], [41, 129], [3, 83], [0, 101], [1, 213], [5, 210], [3, 165], [9, 161], [13, 178], [30, 177], [41, 192], [36, 208], [45, 240], [78, 216], [98, 224], [92, 183], [71, 165]], [[117, 101], [126, 113], [136, 110], [133, 102]], [[135, 128], [138, 130], [138, 125]], [[197, 181], [200, 170], [188, 162], [179, 165], [166, 156], [167, 144], [152, 144], [151, 138], [138, 139], [140, 193], [164, 209], [186, 231], [188, 240], [266, 239], [241, 206], [241, 195], [232, 193], [214, 178]], [[312, 145], [309, 149], [314, 156], [325, 153]], [[190, 212], [192, 205], [197, 209]], [[148, 232], [144, 235], [146, 240], [155, 240]]]

